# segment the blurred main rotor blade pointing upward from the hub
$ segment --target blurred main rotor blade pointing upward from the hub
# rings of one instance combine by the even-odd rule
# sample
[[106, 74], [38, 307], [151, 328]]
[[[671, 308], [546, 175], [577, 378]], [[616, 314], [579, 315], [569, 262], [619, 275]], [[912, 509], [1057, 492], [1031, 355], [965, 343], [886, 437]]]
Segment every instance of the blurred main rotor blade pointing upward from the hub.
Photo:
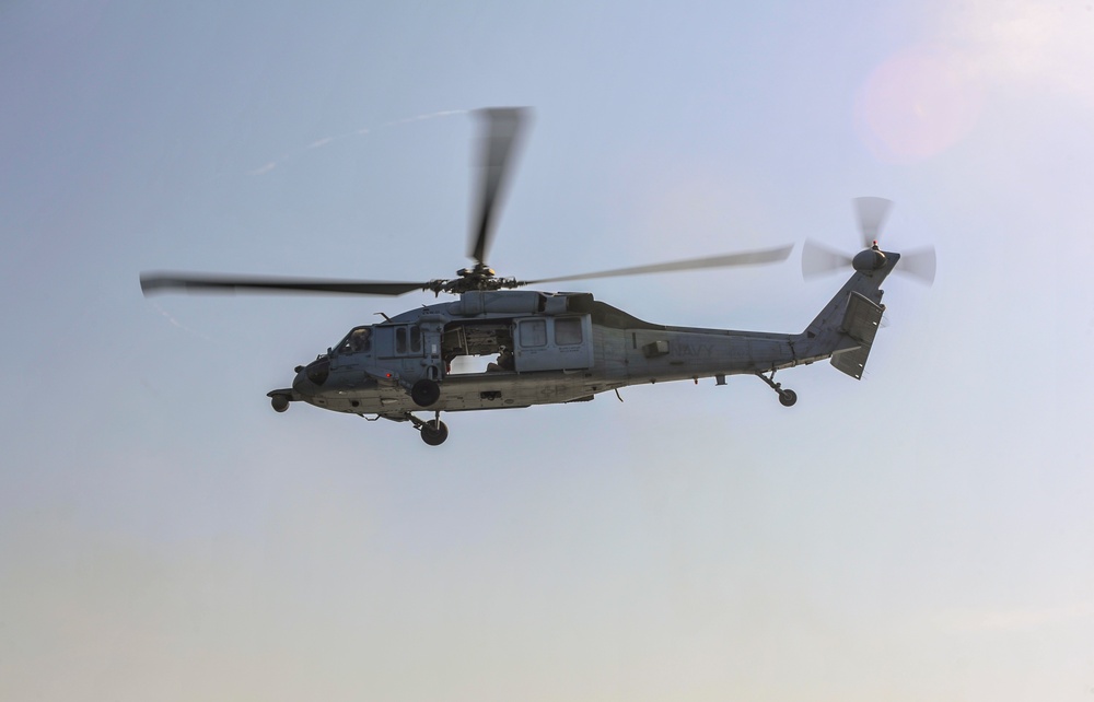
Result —
[[486, 262], [493, 234], [494, 213], [504, 195], [507, 175], [512, 154], [520, 142], [521, 127], [529, 110], [524, 107], [494, 107], [476, 110], [486, 119], [486, 129], [479, 147], [478, 211], [472, 221], [468, 256], [479, 264]]

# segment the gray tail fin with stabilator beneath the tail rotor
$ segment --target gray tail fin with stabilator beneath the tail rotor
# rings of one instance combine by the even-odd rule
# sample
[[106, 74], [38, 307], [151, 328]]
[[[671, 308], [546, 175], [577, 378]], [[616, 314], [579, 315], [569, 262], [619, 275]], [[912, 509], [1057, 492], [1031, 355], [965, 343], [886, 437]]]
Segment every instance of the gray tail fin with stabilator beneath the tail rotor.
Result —
[[856, 271], [799, 335], [799, 355], [810, 363], [830, 356], [837, 371], [860, 379], [885, 311], [881, 284], [899, 258], [886, 251], [881, 268]]

